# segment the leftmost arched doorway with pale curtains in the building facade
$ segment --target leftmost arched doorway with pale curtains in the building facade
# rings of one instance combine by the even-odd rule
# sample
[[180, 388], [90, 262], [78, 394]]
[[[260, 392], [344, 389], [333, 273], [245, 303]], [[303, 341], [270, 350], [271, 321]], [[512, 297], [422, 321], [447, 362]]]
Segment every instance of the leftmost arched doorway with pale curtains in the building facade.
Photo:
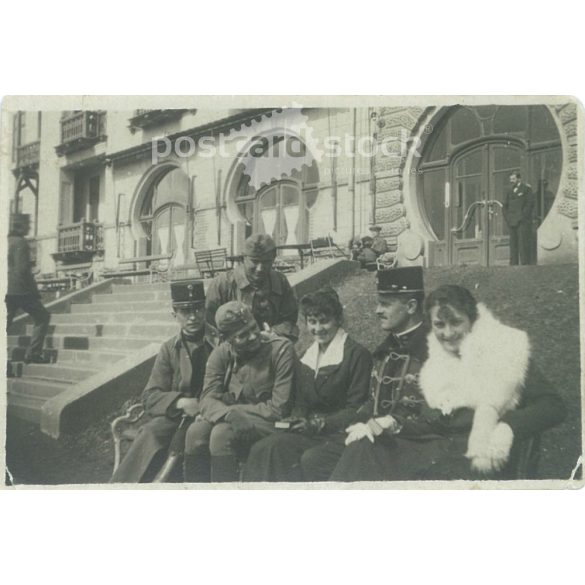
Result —
[[188, 258], [190, 238], [187, 206], [189, 177], [179, 168], [158, 177], [147, 189], [140, 208], [139, 255], [173, 254], [173, 264]]

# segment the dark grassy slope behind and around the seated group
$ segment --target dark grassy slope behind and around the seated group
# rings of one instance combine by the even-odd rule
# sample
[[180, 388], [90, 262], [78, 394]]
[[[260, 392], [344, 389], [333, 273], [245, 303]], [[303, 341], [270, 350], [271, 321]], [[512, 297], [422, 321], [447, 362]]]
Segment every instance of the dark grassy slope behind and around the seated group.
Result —
[[[569, 411], [562, 425], [545, 434], [540, 465], [543, 478], [568, 478], [581, 453], [577, 280], [576, 265], [425, 271], [427, 290], [446, 283], [467, 286], [503, 322], [529, 333], [537, 363]], [[347, 329], [373, 349], [383, 338], [374, 315], [374, 275], [360, 272], [336, 288], [345, 305]], [[299, 349], [308, 341], [303, 334]], [[113, 460], [109, 420], [93, 425], [82, 436], [59, 442], [32, 425], [13, 422], [8, 429], [8, 466], [18, 483], [107, 482]]]

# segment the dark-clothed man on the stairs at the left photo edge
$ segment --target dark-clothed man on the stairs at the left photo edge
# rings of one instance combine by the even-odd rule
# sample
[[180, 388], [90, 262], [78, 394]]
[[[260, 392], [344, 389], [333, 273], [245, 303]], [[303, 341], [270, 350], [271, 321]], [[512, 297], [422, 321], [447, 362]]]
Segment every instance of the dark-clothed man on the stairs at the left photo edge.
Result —
[[32, 273], [30, 250], [25, 237], [30, 230], [30, 217], [24, 213], [15, 213], [8, 234], [8, 290], [6, 291], [6, 311], [8, 329], [18, 309], [28, 313], [34, 322], [32, 339], [24, 357], [27, 363], [47, 363], [43, 355], [43, 343], [50, 313], [41, 303], [41, 295]]

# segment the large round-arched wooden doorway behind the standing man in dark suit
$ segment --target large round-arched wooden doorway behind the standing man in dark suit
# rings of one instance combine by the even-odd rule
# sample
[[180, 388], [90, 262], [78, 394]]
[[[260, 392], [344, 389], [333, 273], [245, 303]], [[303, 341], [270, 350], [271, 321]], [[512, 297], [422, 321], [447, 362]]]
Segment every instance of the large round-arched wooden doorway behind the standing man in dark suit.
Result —
[[510, 173], [536, 195], [536, 228], [550, 210], [562, 170], [558, 130], [544, 106], [457, 107], [441, 120], [418, 167], [423, 215], [436, 241], [431, 264], [509, 263], [501, 204]]

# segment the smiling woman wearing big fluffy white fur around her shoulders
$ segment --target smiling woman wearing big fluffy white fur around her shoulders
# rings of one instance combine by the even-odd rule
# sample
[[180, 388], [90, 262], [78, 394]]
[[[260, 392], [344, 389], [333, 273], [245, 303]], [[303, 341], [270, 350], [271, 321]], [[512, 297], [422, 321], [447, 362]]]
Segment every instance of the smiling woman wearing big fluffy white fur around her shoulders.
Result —
[[416, 425], [372, 419], [335, 481], [510, 479], [523, 441], [559, 424], [560, 397], [536, 368], [528, 336], [500, 323], [471, 293], [442, 286], [426, 299], [429, 358]]

